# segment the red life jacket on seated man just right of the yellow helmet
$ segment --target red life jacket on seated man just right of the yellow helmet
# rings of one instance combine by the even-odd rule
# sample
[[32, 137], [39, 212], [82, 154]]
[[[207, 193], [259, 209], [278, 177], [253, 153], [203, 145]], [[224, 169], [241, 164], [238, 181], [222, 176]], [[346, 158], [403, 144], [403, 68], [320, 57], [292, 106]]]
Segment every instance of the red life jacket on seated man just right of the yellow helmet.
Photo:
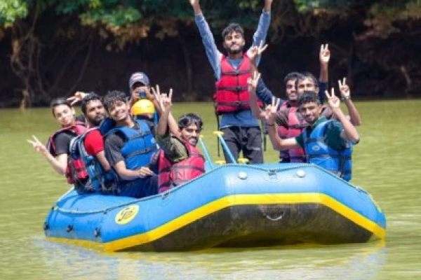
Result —
[[205, 173], [205, 159], [198, 148], [180, 139], [189, 157], [177, 163], [168, 160], [162, 150], [158, 156], [158, 192], [162, 193]]

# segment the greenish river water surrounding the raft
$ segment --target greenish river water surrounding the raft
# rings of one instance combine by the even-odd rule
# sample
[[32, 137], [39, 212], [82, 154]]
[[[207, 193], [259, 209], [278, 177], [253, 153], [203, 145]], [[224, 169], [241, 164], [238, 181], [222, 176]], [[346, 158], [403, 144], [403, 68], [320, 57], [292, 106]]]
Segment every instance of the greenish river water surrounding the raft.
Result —
[[[26, 139], [45, 142], [57, 125], [48, 109], [0, 110], [0, 279], [421, 279], [421, 101], [356, 105], [354, 183], [385, 211], [385, 242], [193, 253], [105, 254], [46, 241], [44, 218], [68, 186]], [[175, 116], [201, 113], [216, 158], [211, 104], [174, 107]], [[275, 162], [267, 140], [265, 160]]]

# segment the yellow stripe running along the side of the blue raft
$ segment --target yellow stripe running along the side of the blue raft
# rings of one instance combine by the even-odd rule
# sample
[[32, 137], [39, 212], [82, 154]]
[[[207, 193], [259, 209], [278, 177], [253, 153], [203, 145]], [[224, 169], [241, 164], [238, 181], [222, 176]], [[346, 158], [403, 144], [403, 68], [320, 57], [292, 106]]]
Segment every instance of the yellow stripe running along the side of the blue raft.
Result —
[[307, 204], [316, 203], [323, 204], [329, 207], [338, 214], [344, 216], [350, 221], [356, 223], [356, 225], [365, 228], [369, 232], [373, 232], [373, 235], [380, 239], [384, 239], [386, 235], [385, 228], [380, 227], [377, 223], [370, 221], [370, 219], [362, 216], [356, 211], [350, 209], [344, 204], [334, 200], [328, 195], [321, 193], [292, 193], [292, 194], [267, 194], [267, 195], [231, 195], [228, 197], [222, 197], [219, 200], [210, 202], [202, 207], [194, 209], [189, 213], [186, 213], [173, 221], [161, 225], [159, 228], [150, 230], [149, 232], [142, 233], [140, 235], [133, 235], [123, 239], [110, 241], [108, 243], [98, 243], [95, 241], [88, 240], [76, 240], [76, 239], [65, 239], [58, 237], [47, 237], [47, 239], [53, 241], [60, 241], [68, 244], [76, 244], [88, 248], [97, 248], [102, 251], [119, 251], [124, 248], [147, 244], [156, 239], [164, 237], [171, 232], [175, 232], [179, 228], [193, 223], [205, 216], [213, 214], [221, 209], [227, 207], [233, 207], [236, 205], [247, 205], [247, 204]]

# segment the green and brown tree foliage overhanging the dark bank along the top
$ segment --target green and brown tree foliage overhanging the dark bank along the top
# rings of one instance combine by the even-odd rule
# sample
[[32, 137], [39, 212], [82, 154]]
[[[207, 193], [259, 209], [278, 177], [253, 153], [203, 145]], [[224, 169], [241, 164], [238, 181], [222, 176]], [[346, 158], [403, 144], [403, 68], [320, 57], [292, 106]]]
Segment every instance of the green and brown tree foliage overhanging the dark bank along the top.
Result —
[[[245, 29], [254, 29], [263, 2], [201, 0], [201, 8], [214, 30], [222, 29], [227, 22], [239, 22]], [[280, 43], [286, 36], [318, 38], [348, 20], [356, 26], [349, 31], [354, 41], [386, 39], [417, 30], [408, 26], [419, 25], [420, 17], [421, 0], [274, 0], [270, 34], [272, 43]], [[46, 18], [53, 18], [53, 25], [41, 23]], [[0, 1], [0, 40], [10, 35], [11, 69], [22, 80], [23, 106], [57, 90], [58, 82], [48, 81], [43, 74], [46, 65], [40, 60], [50, 42], [71, 40], [75, 44], [74, 56], [78, 53], [76, 49], [86, 48], [87, 62], [94, 42], [105, 42], [102, 45], [113, 51], [123, 50], [128, 43], [138, 44], [151, 34], [161, 39], [177, 37], [183, 43], [182, 33], [193, 24], [188, 0]], [[186, 45], [183, 52], [188, 61]], [[402, 69], [402, 65], [393, 67]], [[408, 72], [410, 68], [405, 69]], [[65, 76], [64, 71], [58, 76]]]

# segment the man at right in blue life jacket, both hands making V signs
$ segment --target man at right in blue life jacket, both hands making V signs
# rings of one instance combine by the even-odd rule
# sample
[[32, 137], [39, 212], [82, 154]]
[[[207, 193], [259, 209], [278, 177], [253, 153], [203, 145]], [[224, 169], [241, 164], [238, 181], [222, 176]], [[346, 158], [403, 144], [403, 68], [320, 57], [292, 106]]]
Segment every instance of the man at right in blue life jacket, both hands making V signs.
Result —
[[340, 109], [340, 99], [326, 91], [328, 106], [337, 120], [321, 116], [321, 104], [315, 92], [303, 92], [298, 97], [298, 108], [309, 124], [297, 137], [281, 139], [276, 133], [275, 119], [279, 102], [272, 102], [265, 111], [269, 126], [269, 137], [275, 150], [303, 148], [307, 162], [349, 181], [352, 179], [352, 146], [359, 142], [356, 128]]

